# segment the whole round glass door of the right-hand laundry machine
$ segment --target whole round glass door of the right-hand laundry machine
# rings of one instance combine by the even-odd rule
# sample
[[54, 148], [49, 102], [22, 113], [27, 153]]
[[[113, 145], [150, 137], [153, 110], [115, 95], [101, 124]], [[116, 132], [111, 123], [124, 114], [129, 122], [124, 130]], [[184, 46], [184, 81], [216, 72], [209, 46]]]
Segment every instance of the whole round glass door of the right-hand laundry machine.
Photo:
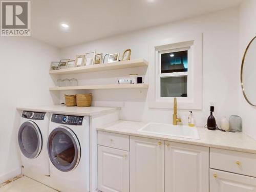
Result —
[[58, 126], [48, 137], [48, 154], [52, 164], [62, 172], [74, 169], [80, 160], [80, 144], [75, 133]]

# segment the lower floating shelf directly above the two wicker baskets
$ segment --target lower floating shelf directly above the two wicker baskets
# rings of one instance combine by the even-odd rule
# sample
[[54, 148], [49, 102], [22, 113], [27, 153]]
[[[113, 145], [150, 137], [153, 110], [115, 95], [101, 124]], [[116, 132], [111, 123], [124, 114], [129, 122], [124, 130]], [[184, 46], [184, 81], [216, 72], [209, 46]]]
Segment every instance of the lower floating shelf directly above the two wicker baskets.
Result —
[[50, 91], [61, 91], [61, 90], [94, 90], [94, 89], [147, 89], [148, 84], [137, 83], [137, 84], [101, 84], [94, 86], [75, 86], [75, 87], [54, 87], [49, 88]]

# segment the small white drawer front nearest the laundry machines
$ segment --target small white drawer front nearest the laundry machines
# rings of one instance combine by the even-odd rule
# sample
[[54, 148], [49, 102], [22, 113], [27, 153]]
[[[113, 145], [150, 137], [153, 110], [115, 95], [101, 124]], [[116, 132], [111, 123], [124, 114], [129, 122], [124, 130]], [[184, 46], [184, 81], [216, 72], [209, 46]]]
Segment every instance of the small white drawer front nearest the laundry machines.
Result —
[[130, 151], [130, 136], [98, 131], [98, 144]]

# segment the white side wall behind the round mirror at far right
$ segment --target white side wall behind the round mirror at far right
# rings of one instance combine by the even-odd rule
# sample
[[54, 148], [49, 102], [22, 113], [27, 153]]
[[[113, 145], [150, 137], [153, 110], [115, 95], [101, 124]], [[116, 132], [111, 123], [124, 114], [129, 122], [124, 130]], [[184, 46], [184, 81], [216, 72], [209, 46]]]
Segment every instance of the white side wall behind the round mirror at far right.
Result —
[[[239, 70], [244, 51], [250, 40], [256, 36], [256, 1], [247, 0], [240, 6], [240, 33], [239, 33]], [[243, 131], [256, 139], [256, 107], [249, 105], [239, 89], [239, 113], [242, 117]]]

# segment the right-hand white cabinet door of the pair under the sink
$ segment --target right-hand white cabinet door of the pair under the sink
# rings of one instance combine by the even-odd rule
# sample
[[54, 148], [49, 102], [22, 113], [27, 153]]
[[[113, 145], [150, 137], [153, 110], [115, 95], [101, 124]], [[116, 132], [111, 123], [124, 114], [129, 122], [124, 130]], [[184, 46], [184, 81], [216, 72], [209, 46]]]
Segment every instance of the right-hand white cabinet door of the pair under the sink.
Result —
[[209, 148], [165, 142], [165, 192], [209, 191]]

